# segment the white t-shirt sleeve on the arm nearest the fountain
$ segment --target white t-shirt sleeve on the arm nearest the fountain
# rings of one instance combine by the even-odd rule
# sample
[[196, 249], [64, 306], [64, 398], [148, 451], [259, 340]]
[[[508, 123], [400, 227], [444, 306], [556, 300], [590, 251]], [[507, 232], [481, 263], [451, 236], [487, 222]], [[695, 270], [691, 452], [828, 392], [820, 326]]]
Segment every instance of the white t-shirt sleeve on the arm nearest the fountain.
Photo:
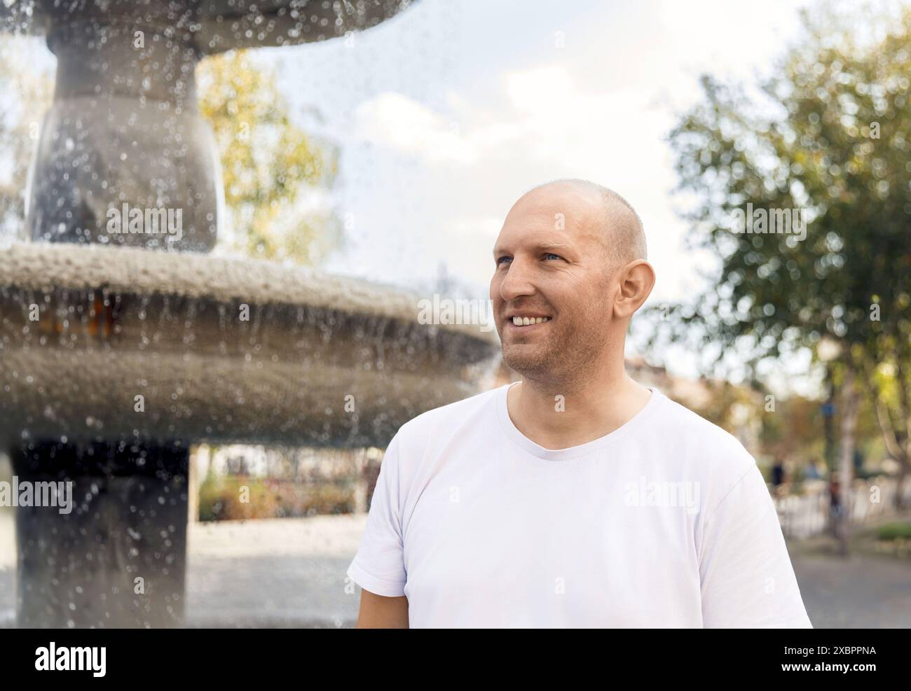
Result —
[[361, 545], [346, 572], [364, 590], [386, 597], [404, 595], [404, 543], [399, 503], [398, 441], [386, 448], [376, 478]]

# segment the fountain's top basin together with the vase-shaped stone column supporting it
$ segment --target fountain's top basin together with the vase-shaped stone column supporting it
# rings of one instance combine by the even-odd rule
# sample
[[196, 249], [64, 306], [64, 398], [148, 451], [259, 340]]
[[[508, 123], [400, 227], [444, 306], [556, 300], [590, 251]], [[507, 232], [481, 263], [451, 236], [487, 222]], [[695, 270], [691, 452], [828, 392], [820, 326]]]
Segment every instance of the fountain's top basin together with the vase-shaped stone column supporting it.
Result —
[[[200, 57], [290, 46], [377, 25], [404, 0], [25, 0], [0, 29], [47, 36], [54, 103], [38, 139], [26, 230], [49, 242], [209, 251], [222, 224], [220, 162], [197, 112]], [[179, 237], [121, 234], [121, 205], [179, 214]], [[175, 234], [176, 235], [176, 234]]]

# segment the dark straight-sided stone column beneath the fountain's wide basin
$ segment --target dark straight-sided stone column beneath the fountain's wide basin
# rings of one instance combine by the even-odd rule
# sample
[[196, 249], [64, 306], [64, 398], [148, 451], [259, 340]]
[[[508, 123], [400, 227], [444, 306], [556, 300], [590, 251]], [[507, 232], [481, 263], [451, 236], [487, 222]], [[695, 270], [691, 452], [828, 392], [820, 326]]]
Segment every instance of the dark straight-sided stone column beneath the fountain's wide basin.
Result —
[[16, 449], [20, 482], [73, 483], [69, 513], [16, 509], [17, 625], [181, 625], [188, 457], [178, 445], [36, 442]]

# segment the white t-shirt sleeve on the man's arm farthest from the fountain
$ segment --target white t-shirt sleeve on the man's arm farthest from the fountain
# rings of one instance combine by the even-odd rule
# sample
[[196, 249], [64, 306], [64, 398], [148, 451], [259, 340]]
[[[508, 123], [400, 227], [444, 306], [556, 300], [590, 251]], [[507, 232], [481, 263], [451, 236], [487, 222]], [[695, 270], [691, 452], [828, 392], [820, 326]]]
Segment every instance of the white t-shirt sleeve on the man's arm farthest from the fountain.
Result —
[[813, 628], [754, 461], [706, 519], [700, 578], [706, 628]]

